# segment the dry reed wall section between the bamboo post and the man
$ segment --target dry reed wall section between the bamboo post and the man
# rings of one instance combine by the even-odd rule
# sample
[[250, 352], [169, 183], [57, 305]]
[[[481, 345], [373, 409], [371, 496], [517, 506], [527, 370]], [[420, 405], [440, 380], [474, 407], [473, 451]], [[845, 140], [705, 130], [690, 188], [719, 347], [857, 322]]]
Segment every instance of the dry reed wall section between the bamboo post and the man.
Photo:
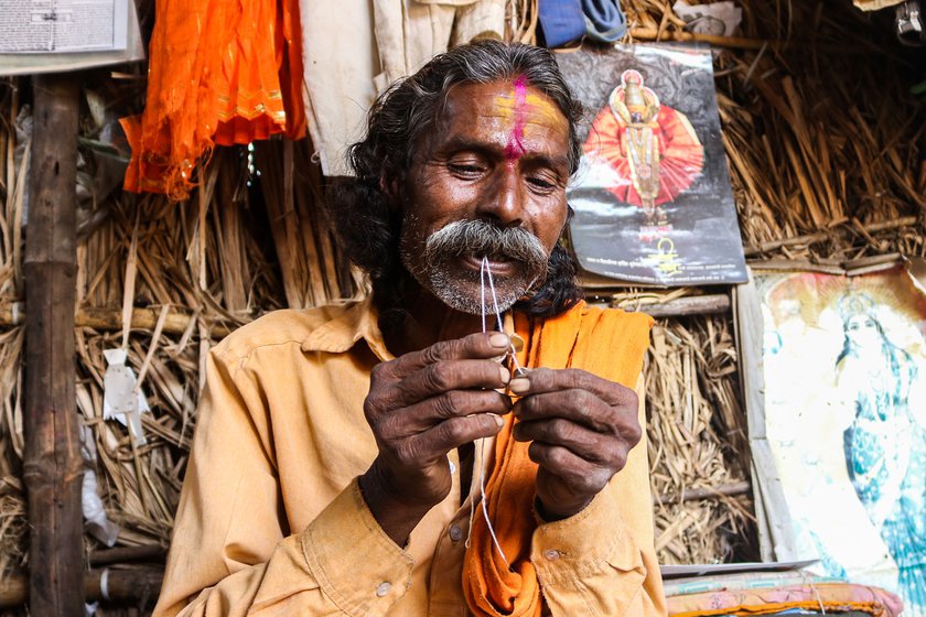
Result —
[[[273, 141], [259, 150], [260, 175], [245, 151], [217, 151], [189, 203], [114, 198], [107, 220], [80, 245], [77, 400], [93, 430], [99, 492], [122, 528], [121, 544], [166, 545], [204, 362], [217, 339], [263, 312], [312, 306], [360, 289], [315, 210], [321, 176], [297, 171], [311, 167], [302, 159], [305, 145]], [[249, 195], [266, 210], [251, 207]], [[119, 304], [114, 318], [111, 307]], [[141, 327], [127, 332], [129, 320], [142, 321]], [[103, 420], [103, 351], [114, 347], [127, 349], [152, 409], [143, 414], [146, 445]]]

